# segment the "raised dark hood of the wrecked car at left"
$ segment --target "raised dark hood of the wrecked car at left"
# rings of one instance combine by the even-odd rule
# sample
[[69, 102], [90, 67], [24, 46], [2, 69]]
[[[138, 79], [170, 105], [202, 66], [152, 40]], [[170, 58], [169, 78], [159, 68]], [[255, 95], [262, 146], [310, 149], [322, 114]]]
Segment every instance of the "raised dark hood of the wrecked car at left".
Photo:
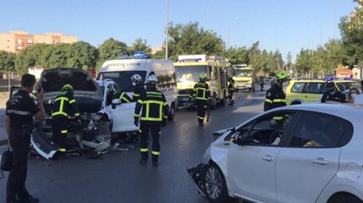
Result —
[[41, 86], [44, 89], [46, 112], [52, 110], [54, 99], [65, 84], [70, 84], [75, 89], [73, 96], [81, 112], [91, 113], [101, 110], [101, 88], [87, 72], [76, 68], [53, 68], [42, 72], [37, 84], [37, 88]]

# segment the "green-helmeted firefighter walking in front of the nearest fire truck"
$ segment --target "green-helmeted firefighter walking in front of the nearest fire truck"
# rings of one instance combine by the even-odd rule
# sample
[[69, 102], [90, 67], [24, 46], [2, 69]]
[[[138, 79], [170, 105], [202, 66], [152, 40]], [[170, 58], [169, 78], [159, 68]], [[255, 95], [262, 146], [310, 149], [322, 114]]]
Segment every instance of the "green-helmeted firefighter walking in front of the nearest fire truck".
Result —
[[210, 105], [211, 99], [211, 90], [209, 89], [209, 85], [205, 82], [206, 79], [207, 76], [201, 74], [199, 76], [199, 82], [194, 85], [195, 101], [198, 109], [197, 118], [200, 126], [204, 125], [205, 110], [207, 109], [207, 105]]

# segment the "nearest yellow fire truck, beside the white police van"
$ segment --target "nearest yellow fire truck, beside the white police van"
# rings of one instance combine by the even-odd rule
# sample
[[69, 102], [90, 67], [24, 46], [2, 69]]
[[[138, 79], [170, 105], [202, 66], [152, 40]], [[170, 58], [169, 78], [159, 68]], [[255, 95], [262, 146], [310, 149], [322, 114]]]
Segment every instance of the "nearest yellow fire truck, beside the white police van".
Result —
[[224, 57], [201, 55], [181, 55], [174, 63], [176, 88], [178, 89], [178, 107], [195, 106], [194, 85], [200, 74], [207, 75], [207, 84], [211, 90], [212, 109], [217, 104], [225, 105], [227, 100], [227, 78], [232, 76], [232, 68]]

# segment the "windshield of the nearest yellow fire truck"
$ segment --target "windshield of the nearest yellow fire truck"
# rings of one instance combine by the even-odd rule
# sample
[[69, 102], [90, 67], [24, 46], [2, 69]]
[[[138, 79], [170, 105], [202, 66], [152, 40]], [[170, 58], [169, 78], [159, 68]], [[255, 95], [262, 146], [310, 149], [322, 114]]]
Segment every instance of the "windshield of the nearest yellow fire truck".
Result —
[[200, 74], [207, 74], [207, 66], [175, 66], [176, 81], [191, 80], [198, 81]]

